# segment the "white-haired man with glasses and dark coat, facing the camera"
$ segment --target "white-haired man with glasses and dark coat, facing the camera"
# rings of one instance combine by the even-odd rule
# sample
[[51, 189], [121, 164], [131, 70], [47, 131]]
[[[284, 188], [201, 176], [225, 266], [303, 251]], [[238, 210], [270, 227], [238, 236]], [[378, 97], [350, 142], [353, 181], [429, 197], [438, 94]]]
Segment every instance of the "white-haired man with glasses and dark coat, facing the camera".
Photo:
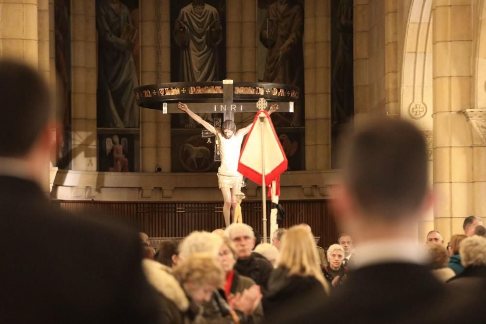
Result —
[[243, 223], [233, 223], [226, 227], [225, 236], [235, 243], [236, 254], [238, 255], [235, 270], [252, 278], [260, 286], [262, 294], [265, 295], [273, 267], [264, 256], [252, 253], [256, 240], [253, 229]]

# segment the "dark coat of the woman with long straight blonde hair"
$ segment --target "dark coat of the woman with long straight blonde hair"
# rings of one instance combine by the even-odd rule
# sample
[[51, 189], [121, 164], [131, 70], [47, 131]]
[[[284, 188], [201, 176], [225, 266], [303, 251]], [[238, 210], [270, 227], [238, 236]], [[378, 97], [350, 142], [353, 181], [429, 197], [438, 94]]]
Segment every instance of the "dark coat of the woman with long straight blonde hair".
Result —
[[[322, 284], [312, 276], [288, 275], [286, 269], [278, 268], [272, 273], [269, 291], [263, 297], [264, 323], [311, 323], [299, 319], [313, 308], [322, 305], [326, 292]], [[301, 301], [306, 300], [306, 303]]]

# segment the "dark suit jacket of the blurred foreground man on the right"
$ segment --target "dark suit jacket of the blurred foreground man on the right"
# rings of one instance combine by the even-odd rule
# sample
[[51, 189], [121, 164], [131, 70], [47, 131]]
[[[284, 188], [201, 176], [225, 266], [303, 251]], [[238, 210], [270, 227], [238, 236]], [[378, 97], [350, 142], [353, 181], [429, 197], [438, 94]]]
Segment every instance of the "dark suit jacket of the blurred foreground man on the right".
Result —
[[[424, 266], [383, 263], [356, 269], [326, 303], [286, 323], [484, 323], [485, 294], [450, 289]], [[301, 303], [305, 303], [302, 301]], [[297, 307], [297, 306], [296, 306]], [[295, 308], [296, 308], [295, 307]]]

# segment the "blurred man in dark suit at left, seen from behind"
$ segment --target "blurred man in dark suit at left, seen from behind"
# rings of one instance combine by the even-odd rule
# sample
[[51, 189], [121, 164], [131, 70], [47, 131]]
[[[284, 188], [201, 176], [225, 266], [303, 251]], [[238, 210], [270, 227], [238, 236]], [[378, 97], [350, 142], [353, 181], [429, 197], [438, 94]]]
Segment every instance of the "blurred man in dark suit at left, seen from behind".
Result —
[[0, 323], [158, 323], [137, 232], [54, 208], [49, 90], [0, 61]]

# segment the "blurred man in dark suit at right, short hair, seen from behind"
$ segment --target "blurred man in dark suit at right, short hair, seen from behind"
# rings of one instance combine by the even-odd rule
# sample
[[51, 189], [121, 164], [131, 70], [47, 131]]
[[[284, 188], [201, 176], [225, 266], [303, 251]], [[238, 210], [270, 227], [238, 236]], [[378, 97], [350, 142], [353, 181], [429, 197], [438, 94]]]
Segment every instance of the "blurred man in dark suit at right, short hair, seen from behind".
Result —
[[433, 202], [420, 131], [403, 120], [377, 119], [346, 143], [333, 204], [340, 228], [359, 242], [355, 269], [320, 307], [280, 323], [484, 322], [471, 309], [481, 309], [485, 294], [448, 289], [417, 244], [417, 222]]

